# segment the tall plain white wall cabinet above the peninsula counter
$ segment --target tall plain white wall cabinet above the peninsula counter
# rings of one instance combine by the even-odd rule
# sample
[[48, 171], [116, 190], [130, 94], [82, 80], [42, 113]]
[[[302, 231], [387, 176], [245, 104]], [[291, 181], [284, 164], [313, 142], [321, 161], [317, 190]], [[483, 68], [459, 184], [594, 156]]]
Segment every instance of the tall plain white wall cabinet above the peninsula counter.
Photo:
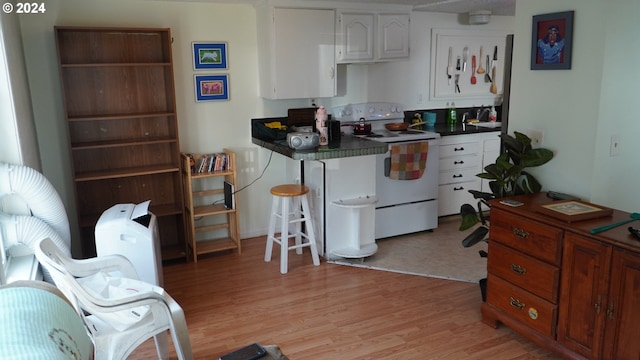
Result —
[[336, 95], [335, 10], [256, 8], [260, 95], [304, 99]]

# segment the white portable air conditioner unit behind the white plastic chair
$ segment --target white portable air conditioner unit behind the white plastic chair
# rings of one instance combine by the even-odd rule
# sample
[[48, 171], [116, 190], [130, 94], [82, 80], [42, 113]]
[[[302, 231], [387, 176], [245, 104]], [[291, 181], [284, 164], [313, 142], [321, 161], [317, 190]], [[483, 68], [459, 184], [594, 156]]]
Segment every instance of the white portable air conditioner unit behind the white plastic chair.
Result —
[[133, 263], [140, 280], [162, 287], [162, 256], [156, 216], [149, 202], [118, 204], [96, 223], [96, 254], [120, 254]]

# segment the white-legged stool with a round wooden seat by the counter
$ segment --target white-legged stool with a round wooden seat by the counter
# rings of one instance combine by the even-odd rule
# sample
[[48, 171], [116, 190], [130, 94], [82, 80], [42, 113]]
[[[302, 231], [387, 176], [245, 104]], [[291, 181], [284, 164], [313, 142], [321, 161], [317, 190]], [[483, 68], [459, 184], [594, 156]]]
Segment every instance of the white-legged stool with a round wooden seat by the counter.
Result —
[[[316, 237], [313, 232], [313, 221], [309, 211], [309, 201], [307, 193], [309, 188], [299, 184], [278, 185], [271, 188], [273, 203], [271, 205], [271, 219], [269, 221], [269, 233], [267, 234], [267, 248], [264, 253], [264, 261], [271, 261], [273, 243], [280, 245], [280, 273], [286, 274], [288, 268], [289, 250], [296, 250], [298, 255], [302, 254], [302, 248], [309, 247], [313, 264], [320, 265], [318, 249], [316, 248]], [[282, 210], [280, 208], [282, 200]], [[289, 207], [292, 202], [292, 207]], [[300, 209], [302, 205], [302, 210]], [[280, 219], [280, 237], [275, 236], [276, 220]], [[302, 231], [302, 222], [305, 224], [306, 233]], [[289, 233], [289, 224], [295, 224], [295, 232]], [[289, 245], [289, 239], [295, 238], [295, 245]], [[302, 240], [306, 239], [305, 242]]]

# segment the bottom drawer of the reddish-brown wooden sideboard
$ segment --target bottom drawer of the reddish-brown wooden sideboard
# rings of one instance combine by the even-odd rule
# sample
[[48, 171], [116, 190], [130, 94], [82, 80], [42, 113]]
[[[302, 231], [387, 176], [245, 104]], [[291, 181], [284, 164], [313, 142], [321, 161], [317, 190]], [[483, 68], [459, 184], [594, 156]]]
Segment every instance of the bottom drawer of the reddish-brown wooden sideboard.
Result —
[[[493, 211], [493, 210], [492, 210]], [[489, 255], [493, 256], [493, 254]], [[556, 336], [558, 306], [489, 273], [487, 303], [552, 339]]]

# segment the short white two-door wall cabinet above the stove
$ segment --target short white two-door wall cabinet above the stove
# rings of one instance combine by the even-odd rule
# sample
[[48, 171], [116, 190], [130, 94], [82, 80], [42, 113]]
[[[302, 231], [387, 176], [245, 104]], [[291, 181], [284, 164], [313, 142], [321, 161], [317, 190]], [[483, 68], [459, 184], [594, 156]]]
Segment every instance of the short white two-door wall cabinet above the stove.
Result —
[[409, 57], [409, 14], [339, 11], [338, 63], [390, 61]]

